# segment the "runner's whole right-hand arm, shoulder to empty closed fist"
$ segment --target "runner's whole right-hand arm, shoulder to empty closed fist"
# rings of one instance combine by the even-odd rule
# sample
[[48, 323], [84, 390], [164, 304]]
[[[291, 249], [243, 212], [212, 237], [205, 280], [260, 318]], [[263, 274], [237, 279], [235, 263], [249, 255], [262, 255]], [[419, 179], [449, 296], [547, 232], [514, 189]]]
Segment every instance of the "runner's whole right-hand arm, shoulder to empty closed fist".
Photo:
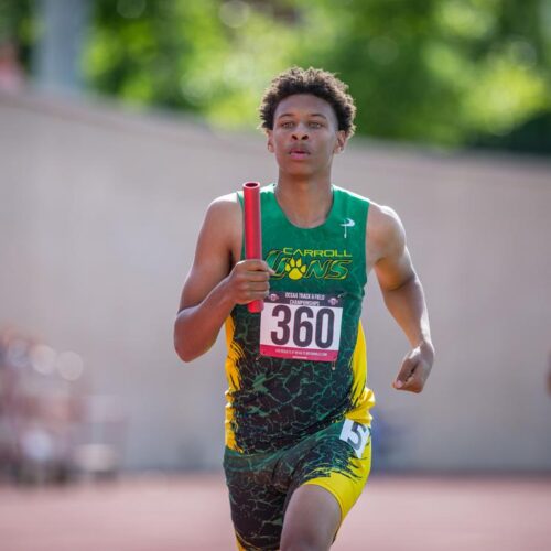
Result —
[[429, 312], [406, 246], [403, 226], [391, 208], [371, 204], [367, 257], [377, 274], [385, 304], [411, 345], [392, 386], [397, 390], [421, 392], [434, 363]]

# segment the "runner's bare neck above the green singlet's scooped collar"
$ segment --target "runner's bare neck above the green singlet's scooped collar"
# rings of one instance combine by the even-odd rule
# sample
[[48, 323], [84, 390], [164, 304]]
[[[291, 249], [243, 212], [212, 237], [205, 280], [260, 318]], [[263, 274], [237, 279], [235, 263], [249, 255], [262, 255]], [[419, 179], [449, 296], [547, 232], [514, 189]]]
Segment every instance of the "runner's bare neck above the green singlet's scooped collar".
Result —
[[333, 205], [333, 190], [329, 181], [289, 181], [279, 179], [276, 198], [289, 222], [301, 228], [322, 225]]

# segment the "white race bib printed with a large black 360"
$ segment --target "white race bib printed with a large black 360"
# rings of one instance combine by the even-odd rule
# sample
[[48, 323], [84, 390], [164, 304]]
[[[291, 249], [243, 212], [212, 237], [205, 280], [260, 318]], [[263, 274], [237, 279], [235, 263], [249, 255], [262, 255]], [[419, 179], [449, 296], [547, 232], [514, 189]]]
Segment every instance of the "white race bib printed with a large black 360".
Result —
[[260, 317], [260, 354], [277, 358], [335, 361], [341, 343], [337, 295], [274, 292]]

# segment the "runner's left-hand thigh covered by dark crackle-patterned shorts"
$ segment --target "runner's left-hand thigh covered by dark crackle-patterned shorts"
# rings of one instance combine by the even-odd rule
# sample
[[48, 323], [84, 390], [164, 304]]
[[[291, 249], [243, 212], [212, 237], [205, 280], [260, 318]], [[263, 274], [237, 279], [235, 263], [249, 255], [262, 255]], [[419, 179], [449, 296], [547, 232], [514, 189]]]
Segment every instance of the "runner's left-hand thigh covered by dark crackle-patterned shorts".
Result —
[[276, 461], [276, 454], [247, 456], [226, 450], [224, 469], [239, 549], [279, 549], [285, 493], [272, 484]]

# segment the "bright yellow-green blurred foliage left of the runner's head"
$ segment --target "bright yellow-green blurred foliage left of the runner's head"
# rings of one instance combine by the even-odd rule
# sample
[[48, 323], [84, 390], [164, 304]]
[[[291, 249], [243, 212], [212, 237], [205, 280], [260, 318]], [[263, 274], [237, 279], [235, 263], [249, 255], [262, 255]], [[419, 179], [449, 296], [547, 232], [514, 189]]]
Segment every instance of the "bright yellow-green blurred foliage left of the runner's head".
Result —
[[270, 2], [96, 0], [95, 8], [85, 60], [94, 89], [217, 126], [257, 122], [262, 89], [299, 42], [296, 25]]

